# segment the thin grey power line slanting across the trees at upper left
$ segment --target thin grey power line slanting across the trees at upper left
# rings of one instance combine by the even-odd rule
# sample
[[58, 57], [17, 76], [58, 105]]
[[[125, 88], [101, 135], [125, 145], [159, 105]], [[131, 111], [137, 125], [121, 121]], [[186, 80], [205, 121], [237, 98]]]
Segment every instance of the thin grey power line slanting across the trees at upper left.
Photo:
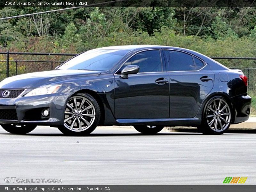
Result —
[[30, 13], [30, 14], [24, 14], [24, 15], [17, 15], [17, 16], [12, 16], [12, 17], [4, 17], [4, 18], [0, 18], [0, 20], [13, 19], [13, 18], [20, 18], [20, 17], [30, 16], [30, 15], [37, 15], [37, 14], [42, 14], [42, 13], [49, 13], [49, 12], [64, 11], [64, 10], [68, 10], [68, 9], [76, 9], [76, 8], [81, 8], [81, 7], [89, 7], [89, 6], [96, 6], [96, 5], [102, 5], [102, 4], [117, 3], [117, 2], [122, 2], [122, 1], [129, 1], [129, 0], [115, 0], [115, 1], [108, 1], [108, 2], [90, 4], [90, 5], [82, 5], [82, 6], [78, 6], [78, 7], [68, 7], [68, 8], [63, 8], [63, 9], [51, 10], [51, 11], [36, 12], [36, 13]]

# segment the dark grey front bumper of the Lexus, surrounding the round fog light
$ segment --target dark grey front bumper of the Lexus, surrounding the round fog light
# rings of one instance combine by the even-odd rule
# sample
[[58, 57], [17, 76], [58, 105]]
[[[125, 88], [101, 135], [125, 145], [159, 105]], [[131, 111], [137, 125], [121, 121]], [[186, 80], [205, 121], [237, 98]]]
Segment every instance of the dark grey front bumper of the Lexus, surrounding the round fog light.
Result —
[[[16, 99], [0, 99], [1, 113], [16, 111], [15, 119], [4, 119], [1, 116], [0, 124], [37, 124], [37, 125], [63, 125], [66, 102], [73, 92], [20, 97]], [[49, 109], [49, 116], [41, 118], [41, 111]], [[15, 114], [15, 115], [16, 115]]]

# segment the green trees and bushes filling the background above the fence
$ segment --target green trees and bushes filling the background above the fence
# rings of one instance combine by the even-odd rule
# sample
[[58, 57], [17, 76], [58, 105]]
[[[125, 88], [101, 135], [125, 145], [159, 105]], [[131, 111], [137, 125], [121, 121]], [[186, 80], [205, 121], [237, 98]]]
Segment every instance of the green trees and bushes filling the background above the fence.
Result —
[[[5, 7], [0, 16], [50, 9]], [[255, 57], [255, 15], [255, 7], [86, 7], [1, 20], [0, 51], [75, 53], [101, 46], [159, 44], [209, 56]]]

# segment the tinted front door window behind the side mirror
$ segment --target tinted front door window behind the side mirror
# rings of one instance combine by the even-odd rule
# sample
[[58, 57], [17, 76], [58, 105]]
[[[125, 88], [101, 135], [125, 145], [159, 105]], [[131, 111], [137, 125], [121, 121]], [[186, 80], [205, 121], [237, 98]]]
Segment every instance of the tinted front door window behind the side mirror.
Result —
[[138, 65], [140, 67], [140, 73], [163, 71], [159, 50], [144, 51], [134, 55], [124, 63], [119, 73], [127, 65]]

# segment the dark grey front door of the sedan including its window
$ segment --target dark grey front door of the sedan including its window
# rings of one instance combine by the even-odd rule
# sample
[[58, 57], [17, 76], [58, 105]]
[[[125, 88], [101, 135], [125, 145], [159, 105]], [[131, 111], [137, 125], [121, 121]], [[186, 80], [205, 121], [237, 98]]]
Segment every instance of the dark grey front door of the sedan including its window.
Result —
[[138, 65], [138, 74], [127, 79], [115, 75], [115, 116], [117, 119], [169, 118], [169, 75], [160, 50], [139, 52], [122, 66]]

